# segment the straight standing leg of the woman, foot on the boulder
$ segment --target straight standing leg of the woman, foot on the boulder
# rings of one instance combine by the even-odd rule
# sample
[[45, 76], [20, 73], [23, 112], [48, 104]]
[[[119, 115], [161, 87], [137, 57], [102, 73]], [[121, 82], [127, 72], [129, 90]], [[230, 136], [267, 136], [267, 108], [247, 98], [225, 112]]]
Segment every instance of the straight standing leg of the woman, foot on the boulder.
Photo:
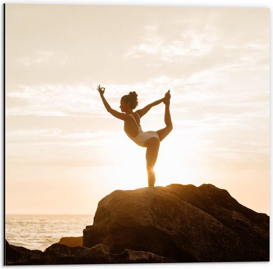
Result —
[[148, 174], [148, 186], [154, 187], [155, 174], [154, 174], [153, 168], [157, 159], [160, 141], [158, 140], [158, 138], [152, 137], [146, 141], [145, 145], [147, 146], [146, 168], [147, 168], [147, 174]]

